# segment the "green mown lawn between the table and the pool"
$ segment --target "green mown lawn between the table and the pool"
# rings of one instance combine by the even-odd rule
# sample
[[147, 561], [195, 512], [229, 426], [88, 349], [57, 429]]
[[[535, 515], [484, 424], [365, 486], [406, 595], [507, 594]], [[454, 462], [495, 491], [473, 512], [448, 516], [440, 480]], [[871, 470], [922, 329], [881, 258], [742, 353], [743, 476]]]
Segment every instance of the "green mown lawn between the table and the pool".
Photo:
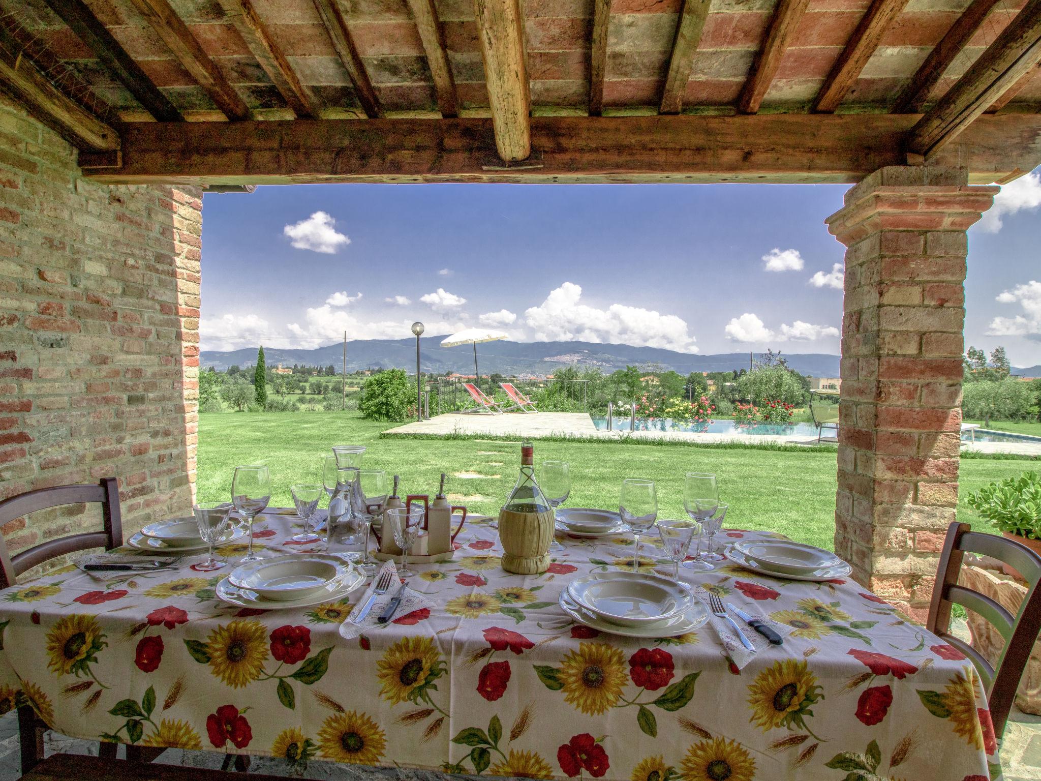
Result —
[[[519, 448], [481, 439], [380, 438], [387, 424], [356, 413], [237, 412], [199, 415], [198, 489], [202, 501], [226, 498], [236, 464], [263, 462], [274, 482], [272, 503], [291, 505], [289, 485], [320, 482], [324, 456], [333, 445], [364, 445], [365, 465], [399, 474], [402, 492], [434, 494], [441, 472], [448, 493], [472, 511], [496, 513], [513, 485]], [[658, 483], [659, 518], [683, 513], [681, 483], [685, 472], [714, 472], [720, 498], [731, 505], [729, 525], [780, 531], [812, 545], [831, 548], [835, 508], [835, 451], [714, 449], [676, 445], [608, 442], [537, 442], [536, 462], [559, 459], [572, 464], [567, 505], [615, 507], [625, 477]], [[959, 517], [980, 519], [964, 497], [992, 480], [1037, 469], [1032, 461], [962, 459], [963, 501]], [[476, 473], [478, 478], [455, 477]], [[462, 498], [462, 499], [460, 499]]]

